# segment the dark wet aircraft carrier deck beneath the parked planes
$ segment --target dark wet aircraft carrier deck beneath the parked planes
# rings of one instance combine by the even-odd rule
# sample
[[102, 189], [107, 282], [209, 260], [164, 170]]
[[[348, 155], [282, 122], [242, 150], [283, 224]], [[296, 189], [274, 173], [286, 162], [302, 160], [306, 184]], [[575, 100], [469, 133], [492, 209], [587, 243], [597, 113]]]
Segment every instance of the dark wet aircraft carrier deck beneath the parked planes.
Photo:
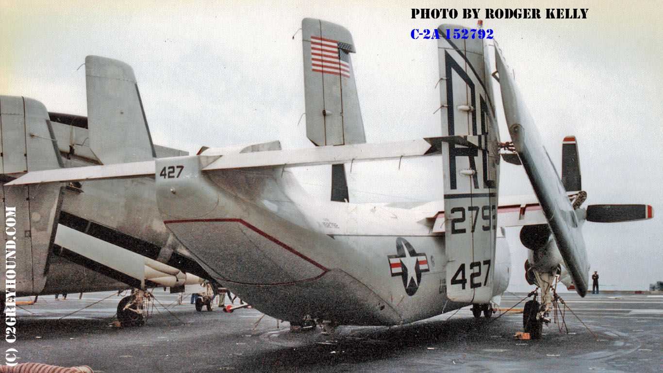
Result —
[[[178, 297], [154, 293], [164, 305]], [[84, 294], [82, 300], [70, 294], [66, 301], [50, 295], [22, 305], [13, 343], [19, 362], [123, 373], [663, 370], [663, 295], [562, 294], [591, 332], [567, 310], [566, 327], [544, 326], [540, 340], [514, 338], [522, 331], [520, 313], [476, 320], [469, 308], [401, 327], [339, 327], [323, 336], [290, 333], [288, 323], [254, 309], [197, 313], [185, 299], [169, 308], [172, 315], [156, 304], [144, 327], [113, 329], [120, 299], [113, 295], [58, 321], [110, 294]], [[524, 296], [505, 295], [503, 308]]]

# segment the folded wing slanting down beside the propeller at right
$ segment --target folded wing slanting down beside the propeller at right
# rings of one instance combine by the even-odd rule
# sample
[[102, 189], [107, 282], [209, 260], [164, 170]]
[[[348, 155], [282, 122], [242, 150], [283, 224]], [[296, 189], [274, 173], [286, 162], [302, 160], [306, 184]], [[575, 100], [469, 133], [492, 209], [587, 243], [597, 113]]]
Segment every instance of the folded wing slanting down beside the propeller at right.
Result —
[[522, 165], [532, 188], [538, 197], [546, 220], [562, 254], [564, 264], [571, 273], [577, 293], [587, 293], [589, 262], [577, 216], [566, 195], [566, 189], [542, 145], [534, 121], [527, 111], [514, 85], [511, 72], [507, 70], [501, 51], [495, 45], [495, 59], [499, 73], [500, 88], [505, 117], [513, 145], [518, 151]]

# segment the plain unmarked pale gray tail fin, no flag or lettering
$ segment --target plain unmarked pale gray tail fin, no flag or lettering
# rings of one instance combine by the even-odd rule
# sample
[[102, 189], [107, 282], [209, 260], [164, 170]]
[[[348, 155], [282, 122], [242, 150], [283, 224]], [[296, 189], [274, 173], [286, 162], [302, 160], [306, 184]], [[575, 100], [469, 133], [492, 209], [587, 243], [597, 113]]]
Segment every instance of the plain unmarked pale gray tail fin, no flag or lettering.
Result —
[[131, 66], [87, 56], [90, 147], [99, 162], [127, 163], [156, 157]]

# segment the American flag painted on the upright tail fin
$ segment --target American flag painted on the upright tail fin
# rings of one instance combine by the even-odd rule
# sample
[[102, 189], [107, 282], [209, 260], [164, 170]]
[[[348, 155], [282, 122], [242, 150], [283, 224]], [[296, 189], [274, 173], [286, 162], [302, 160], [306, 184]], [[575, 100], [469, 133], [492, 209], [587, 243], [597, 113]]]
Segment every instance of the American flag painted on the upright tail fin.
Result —
[[336, 74], [350, 77], [348, 51], [350, 44], [335, 40], [311, 37], [311, 70], [324, 74]]

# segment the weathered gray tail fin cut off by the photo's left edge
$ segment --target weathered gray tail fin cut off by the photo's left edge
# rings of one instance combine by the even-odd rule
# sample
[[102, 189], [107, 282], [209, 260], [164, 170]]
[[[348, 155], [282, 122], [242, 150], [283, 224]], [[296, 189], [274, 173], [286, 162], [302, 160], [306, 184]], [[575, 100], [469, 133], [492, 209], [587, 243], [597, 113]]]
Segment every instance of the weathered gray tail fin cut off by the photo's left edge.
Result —
[[[7, 258], [12, 248], [21, 251], [13, 259], [21, 268], [21, 271], [17, 270], [14, 291], [39, 293], [46, 283], [48, 268], [48, 246], [43, 243], [48, 243], [51, 237], [50, 222], [58, 206], [53, 202], [58, 201], [60, 186], [6, 185], [17, 174], [27, 171], [58, 172], [62, 158], [48, 112], [41, 102], [0, 96], [0, 133], [0, 182], [3, 185], [0, 224], [7, 224], [7, 232], [11, 232], [11, 227], [21, 227], [21, 234], [15, 229], [13, 240], [8, 238], [11, 241], [5, 242]], [[0, 271], [5, 271], [5, 261], [0, 263]], [[5, 285], [0, 285], [0, 291], [4, 290]]]

